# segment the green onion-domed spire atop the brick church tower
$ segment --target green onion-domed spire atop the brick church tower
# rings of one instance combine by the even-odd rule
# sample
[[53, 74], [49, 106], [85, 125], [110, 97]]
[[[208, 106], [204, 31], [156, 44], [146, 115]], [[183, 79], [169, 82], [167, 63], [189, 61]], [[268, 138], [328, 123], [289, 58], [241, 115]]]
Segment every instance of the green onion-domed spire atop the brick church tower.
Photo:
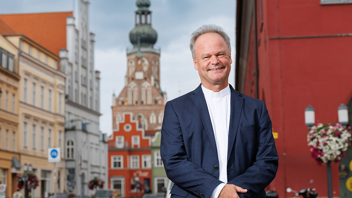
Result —
[[138, 47], [138, 37], [141, 47], [153, 47], [157, 40], [157, 33], [151, 27], [151, 11], [149, 0], [138, 0], [136, 2], [136, 26], [130, 32], [130, 41], [134, 47]]

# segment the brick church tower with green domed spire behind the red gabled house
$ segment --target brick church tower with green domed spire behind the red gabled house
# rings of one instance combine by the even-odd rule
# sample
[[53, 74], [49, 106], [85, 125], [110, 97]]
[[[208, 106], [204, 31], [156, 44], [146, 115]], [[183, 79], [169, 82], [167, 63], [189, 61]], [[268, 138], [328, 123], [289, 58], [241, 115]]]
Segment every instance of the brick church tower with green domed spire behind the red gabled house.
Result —
[[160, 88], [160, 49], [153, 47], [157, 32], [151, 26], [149, 0], [138, 0], [135, 27], [130, 32], [132, 48], [127, 49], [125, 87], [113, 94], [113, 130], [122, 122], [123, 112], [132, 112], [146, 135], [154, 135], [162, 125], [166, 93]]

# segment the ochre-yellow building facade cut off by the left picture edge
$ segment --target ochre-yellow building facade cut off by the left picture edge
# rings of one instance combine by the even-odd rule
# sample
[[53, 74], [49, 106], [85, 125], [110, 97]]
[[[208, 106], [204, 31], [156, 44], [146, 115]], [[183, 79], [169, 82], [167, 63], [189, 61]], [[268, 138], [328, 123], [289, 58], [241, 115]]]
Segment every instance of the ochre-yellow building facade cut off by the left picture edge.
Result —
[[[6, 197], [16, 191], [20, 167], [18, 154], [19, 81], [18, 49], [0, 35], [0, 184], [6, 184]], [[14, 159], [15, 158], [15, 159]]]

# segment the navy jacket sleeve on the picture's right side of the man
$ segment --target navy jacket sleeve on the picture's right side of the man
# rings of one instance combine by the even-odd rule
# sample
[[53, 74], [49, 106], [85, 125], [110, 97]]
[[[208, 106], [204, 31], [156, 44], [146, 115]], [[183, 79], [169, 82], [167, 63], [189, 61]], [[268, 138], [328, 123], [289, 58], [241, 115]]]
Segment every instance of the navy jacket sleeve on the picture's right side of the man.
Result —
[[257, 140], [256, 161], [243, 174], [227, 182], [248, 190], [245, 194], [239, 193], [241, 198], [264, 196], [265, 193], [261, 193], [274, 180], [278, 168], [278, 155], [272, 136], [271, 120], [263, 101], [257, 127]]

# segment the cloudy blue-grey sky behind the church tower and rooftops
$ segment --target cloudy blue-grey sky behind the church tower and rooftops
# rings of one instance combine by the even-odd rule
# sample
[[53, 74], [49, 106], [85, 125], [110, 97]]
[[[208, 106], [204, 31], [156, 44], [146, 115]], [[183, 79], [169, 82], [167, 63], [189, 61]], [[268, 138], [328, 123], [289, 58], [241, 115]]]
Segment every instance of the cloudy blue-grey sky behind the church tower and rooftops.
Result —
[[[73, 11], [74, 0], [6, 0], [0, 13]], [[224, 28], [231, 39], [235, 60], [235, 0], [150, 0], [152, 27], [158, 33], [154, 47], [161, 48], [161, 89], [168, 100], [195, 89], [200, 79], [189, 50], [190, 34], [203, 24]], [[112, 94], [124, 87], [126, 48], [134, 27], [136, 0], [90, 0], [89, 29], [95, 33], [95, 69], [100, 70], [100, 130], [112, 133]], [[229, 83], [234, 85], [234, 63]]]

